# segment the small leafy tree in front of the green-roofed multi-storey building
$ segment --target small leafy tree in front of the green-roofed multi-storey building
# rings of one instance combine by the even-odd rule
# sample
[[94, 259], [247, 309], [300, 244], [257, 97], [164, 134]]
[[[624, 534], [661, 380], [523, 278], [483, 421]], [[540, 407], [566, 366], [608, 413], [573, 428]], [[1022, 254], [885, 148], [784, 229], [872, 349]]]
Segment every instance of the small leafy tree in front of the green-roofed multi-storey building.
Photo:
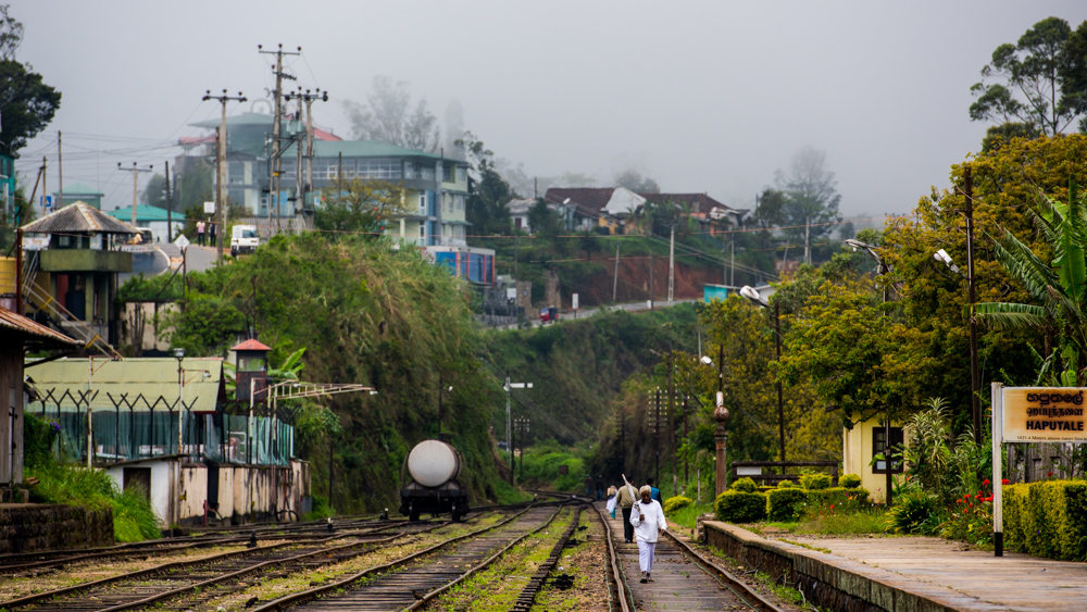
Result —
[[322, 203], [313, 215], [317, 229], [376, 236], [388, 223], [408, 214], [415, 207], [408, 201], [403, 185], [386, 180], [358, 178], [332, 184], [321, 191]]

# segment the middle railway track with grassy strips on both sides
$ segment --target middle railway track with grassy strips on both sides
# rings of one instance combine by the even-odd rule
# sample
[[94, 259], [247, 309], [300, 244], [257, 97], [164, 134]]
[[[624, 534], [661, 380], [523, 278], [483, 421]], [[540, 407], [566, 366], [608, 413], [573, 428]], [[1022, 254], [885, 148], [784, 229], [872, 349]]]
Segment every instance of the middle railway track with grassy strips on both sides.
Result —
[[509, 519], [343, 579], [253, 608], [272, 612], [416, 610], [551, 524], [564, 505], [533, 505]]

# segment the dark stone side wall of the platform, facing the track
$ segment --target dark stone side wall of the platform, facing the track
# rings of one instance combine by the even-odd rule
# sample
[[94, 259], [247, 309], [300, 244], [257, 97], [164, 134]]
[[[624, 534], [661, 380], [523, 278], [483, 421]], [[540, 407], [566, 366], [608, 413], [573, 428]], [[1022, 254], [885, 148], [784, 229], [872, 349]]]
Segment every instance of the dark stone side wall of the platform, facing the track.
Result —
[[702, 524], [705, 544], [744, 565], [799, 589], [815, 605], [837, 612], [944, 612], [953, 610], [919, 594], [884, 583], [863, 563], [790, 544], [764, 539], [717, 521]]

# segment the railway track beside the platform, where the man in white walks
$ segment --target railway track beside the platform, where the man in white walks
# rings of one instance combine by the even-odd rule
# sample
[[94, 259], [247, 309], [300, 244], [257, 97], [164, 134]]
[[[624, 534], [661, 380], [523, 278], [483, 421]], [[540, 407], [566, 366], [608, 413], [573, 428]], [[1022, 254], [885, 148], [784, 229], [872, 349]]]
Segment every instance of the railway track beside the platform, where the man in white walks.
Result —
[[595, 504], [607, 528], [612, 603], [623, 612], [651, 610], [758, 610], [782, 612], [713, 559], [671, 533], [657, 541], [653, 580], [640, 583], [636, 544], [623, 540], [622, 515], [611, 519]]

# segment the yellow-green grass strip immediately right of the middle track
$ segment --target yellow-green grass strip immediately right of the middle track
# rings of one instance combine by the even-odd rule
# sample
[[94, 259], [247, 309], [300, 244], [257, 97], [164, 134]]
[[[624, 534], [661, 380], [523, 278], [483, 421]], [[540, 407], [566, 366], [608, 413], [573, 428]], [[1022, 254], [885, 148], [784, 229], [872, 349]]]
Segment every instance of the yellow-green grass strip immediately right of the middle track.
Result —
[[[547, 561], [551, 549], [570, 527], [575, 510], [564, 509], [542, 532], [510, 549], [486, 570], [442, 594], [427, 610], [490, 612], [509, 610], [528, 585], [536, 570]], [[583, 513], [583, 521], [586, 513]], [[575, 532], [574, 537], [582, 532]], [[584, 545], [582, 545], [584, 546]], [[561, 563], [560, 563], [561, 565]], [[547, 587], [545, 587], [547, 588]], [[542, 610], [575, 610], [579, 608], [541, 607]]]

